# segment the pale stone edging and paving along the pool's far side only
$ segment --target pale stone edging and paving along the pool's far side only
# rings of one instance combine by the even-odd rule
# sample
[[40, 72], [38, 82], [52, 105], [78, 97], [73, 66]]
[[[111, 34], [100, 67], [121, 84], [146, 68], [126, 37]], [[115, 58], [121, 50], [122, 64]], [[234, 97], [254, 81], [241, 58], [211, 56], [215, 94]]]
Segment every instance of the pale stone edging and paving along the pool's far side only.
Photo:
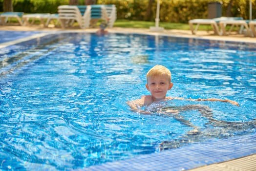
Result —
[[[11, 27], [12, 29], [15, 28], [15, 30], [8, 30], [8, 31], [26, 31], [28, 28], [24, 26], [20, 27], [12, 27], [12, 26], [1, 26], [0, 31], [4, 30], [4, 27], [8, 29], [8, 27]], [[17, 29], [18, 28], [18, 29]], [[30, 29], [33, 29], [33, 27], [29, 27]], [[34, 27], [34, 30], [32, 31], [40, 31], [41, 27]], [[16, 43], [21, 43], [24, 41], [29, 41], [35, 38], [43, 37], [48, 34], [61, 34], [61, 33], [95, 33], [98, 29], [97, 28], [90, 28], [90, 29], [46, 29], [41, 28], [42, 33], [35, 34], [26, 38], [18, 39], [15, 41], [0, 43], [0, 48], [13, 45]], [[31, 30], [30, 30], [31, 31]], [[216, 36], [211, 35], [210, 33], [205, 31], [198, 31], [198, 35], [192, 35], [189, 34], [190, 30], [165, 30], [164, 32], [150, 32], [149, 29], [134, 29], [134, 28], [120, 28], [120, 27], [113, 27], [108, 28], [109, 33], [122, 33], [122, 34], [143, 34], [143, 35], [152, 35], [152, 36], [170, 36], [170, 37], [176, 37], [176, 38], [192, 38], [192, 39], [198, 39], [198, 40], [213, 40], [213, 41], [223, 41], [223, 42], [236, 42], [236, 43], [256, 43], [256, 37], [235, 37], [235, 36]], [[178, 32], [178, 33], [177, 33]]]

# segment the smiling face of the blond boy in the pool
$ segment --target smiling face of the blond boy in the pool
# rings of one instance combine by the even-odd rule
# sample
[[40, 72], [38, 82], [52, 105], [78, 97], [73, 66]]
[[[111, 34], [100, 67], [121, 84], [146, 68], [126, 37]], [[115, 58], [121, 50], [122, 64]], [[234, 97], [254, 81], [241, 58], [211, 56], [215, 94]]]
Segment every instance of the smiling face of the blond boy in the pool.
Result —
[[168, 76], [161, 75], [149, 77], [146, 87], [150, 91], [153, 100], [160, 101], [165, 99], [167, 91], [171, 89], [172, 85]]

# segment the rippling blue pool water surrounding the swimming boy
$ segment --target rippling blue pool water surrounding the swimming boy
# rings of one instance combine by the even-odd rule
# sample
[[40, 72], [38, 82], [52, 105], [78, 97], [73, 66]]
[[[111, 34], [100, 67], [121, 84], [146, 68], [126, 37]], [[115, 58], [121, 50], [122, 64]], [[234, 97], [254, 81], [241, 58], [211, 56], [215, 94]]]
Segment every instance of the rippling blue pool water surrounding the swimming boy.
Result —
[[[256, 133], [256, 44], [138, 34], [65, 33], [0, 49], [0, 168], [72, 170]], [[171, 70], [164, 107], [208, 106], [175, 117], [130, 111], [146, 73]], [[163, 107], [160, 107], [163, 108]]]

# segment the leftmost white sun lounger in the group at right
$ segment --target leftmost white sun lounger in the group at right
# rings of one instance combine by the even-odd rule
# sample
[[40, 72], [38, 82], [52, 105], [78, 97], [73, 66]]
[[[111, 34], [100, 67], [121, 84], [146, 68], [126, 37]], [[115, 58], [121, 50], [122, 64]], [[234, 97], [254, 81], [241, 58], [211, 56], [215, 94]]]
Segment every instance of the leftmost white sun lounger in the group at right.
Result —
[[[242, 20], [241, 17], [219, 17], [214, 19], [193, 19], [189, 21], [190, 29], [192, 34], [195, 34], [200, 24], [211, 25], [213, 27], [214, 34], [222, 35], [222, 31], [219, 31], [218, 23], [224, 20]], [[193, 24], [196, 24], [195, 29], [193, 29]]]

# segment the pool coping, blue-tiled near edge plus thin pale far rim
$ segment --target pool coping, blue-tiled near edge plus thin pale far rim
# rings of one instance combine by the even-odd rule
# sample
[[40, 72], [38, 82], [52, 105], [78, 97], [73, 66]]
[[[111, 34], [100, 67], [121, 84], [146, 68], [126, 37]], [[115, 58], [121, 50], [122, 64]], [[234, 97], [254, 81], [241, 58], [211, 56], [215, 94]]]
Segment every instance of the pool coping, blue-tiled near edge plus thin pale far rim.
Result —
[[[24, 41], [29, 41], [29, 40], [43, 37], [49, 34], [74, 33], [74, 32], [81, 32], [81, 31], [67, 30], [67, 31], [42, 32], [42, 33], [35, 34], [19, 40], [0, 43], [0, 48], [13, 45], [16, 43], [22, 43]], [[83, 31], [83, 32], [94, 33], [93, 31], [86, 31], [86, 32]], [[110, 33], [124, 33], [124, 32], [111, 31]], [[168, 35], [164, 33], [141, 33], [141, 32], [128, 32], [128, 33], [153, 35], [153, 36], [159, 35], [159, 36], [180, 37], [180, 36]], [[183, 38], [209, 40], [208, 38], [202, 38], [202, 37], [183, 36]], [[244, 41], [230, 41], [230, 40], [219, 40], [219, 39], [210, 39], [210, 40], [225, 41], [225, 42], [228, 41], [228, 42], [256, 43], [256, 42], [250, 42], [250, 41], [244, 42]], [[246, 143], [246, 147], [244, 143]], [[250, 135], [232, 137], [224, 140], [209, 140], [205, 143], [196, 143], [188, 146], [183, 146], [182, 148], [178, 148], [178, 149], [165, 150], [159, 153], [139, 155], [126, 160], [108, 162], [102, 165], [91, 166], [91, 167], [85, 168], [85, 170], [86, 171], [87, 170], [88, 171], [102, 171], [102, 170], [105, 170], [105, 171], [116, 171], [116, 170], [118, 171], [126, 171], [126, 170], [129, 170], [129, 171], [135, 171], [135, 170], [136, 171], [138, 170], [140, 171], [163, 171], [163, 170], [184, 171], [184, 170], [190, 170], [197, 167], [202, 167], [205, 165], [224, 162], [228, 160], [233, 160], [235, 158], [256, 154], [255, 144], [256, 144], [256, 133], [252, 133]], [[201, 148], [201, 146], [204, 146], [204, 148]], [[226, 148], [223, 149], [223, 147], [226, 147]], [[211, 152], [211, 155], [209, 155], [209, 151]], [[235, 155], [233, 155], [234, 151], [235, 151]], [[225, 152], [225, 155], [223, 155], [223, 152]], [[194, 158], [196, 158], [196, 160], [193, 160]]]

